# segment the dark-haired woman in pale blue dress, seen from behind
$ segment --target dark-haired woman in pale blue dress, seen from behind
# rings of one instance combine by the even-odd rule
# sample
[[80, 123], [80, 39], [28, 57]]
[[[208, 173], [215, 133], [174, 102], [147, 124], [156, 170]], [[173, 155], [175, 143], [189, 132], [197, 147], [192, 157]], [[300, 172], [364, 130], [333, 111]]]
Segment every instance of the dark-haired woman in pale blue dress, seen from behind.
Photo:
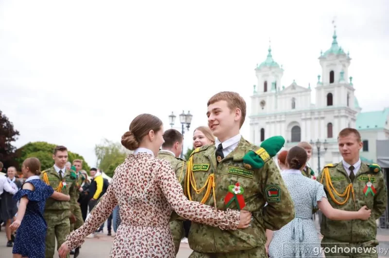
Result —
[[[371, 210], [367, 210], [366, 206], [358, 211], [332, 208], [323, 185], [302, 175], [306, 161], [307, 153], [302, 147], [294, 146], [288, 151], [286, 156], [288, 169], [283, 171], [282, 177], [292, 195], [296, 216], [286, 226], [274, 231], [274, 235], [273, 231], [266, 230], [266, 249], [270, 258], [322, 257], [323, 254], [317, 251], [320, 250], [320, 241], [312, 220], [312, 210], [316, 207], [333, 221], [368, 220], [371, 215]], [[296, 250], [300, 251], [296, 253]]]

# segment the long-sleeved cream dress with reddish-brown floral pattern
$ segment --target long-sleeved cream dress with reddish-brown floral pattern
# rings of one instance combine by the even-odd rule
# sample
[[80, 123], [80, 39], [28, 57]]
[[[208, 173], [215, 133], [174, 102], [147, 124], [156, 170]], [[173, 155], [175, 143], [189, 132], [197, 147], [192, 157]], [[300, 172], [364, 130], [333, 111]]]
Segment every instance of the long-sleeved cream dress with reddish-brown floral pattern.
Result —
[[130, 154], [116, 168], [106, 194], [87, 221], [66, 238], [69, 249], [80, 246], [117, 204], [122, 223], [116, 232], [110, 258], [174, 258], [169, 226], [173, 210], [185, 219], [221, 229], [236, 229], [240, 221], [237, 210], [220, 211], [189, 201], [170, 163], [141, 152]]

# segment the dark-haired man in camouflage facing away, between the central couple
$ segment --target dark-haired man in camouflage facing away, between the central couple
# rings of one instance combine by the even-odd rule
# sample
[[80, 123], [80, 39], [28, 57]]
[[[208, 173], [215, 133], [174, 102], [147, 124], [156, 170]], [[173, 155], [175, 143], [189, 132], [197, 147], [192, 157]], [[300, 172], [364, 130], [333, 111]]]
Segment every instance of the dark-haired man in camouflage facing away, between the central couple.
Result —
[[[182, 151], [183, 137], [176, 129], [168, 129], [163, 133], [162, 149], [158, 153], [159, 159], [169, 161], [172, 165], [178, 181], [183, 186], [186, 174], [186, 161], [178, 158]], [[170, 230], [172, 231], [174, 246], [176, 247], [176, 255], [179, 250], [181, 239], [184, 236], [184, 225], [180, 219], [170, 222]]]

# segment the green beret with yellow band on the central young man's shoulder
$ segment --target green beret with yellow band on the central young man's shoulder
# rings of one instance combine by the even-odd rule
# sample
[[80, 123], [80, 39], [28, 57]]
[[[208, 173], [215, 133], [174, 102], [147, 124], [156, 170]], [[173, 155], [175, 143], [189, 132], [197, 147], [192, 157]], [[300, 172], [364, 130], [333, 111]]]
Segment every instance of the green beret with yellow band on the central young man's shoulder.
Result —
[[248, 168], [259, 169], [265, 165], [265, 162], [276, 156], [285, 143], [282, 136], [273, 136], [262, 142], [257, 150], [250, 150], [243, 157], [243, 165]]

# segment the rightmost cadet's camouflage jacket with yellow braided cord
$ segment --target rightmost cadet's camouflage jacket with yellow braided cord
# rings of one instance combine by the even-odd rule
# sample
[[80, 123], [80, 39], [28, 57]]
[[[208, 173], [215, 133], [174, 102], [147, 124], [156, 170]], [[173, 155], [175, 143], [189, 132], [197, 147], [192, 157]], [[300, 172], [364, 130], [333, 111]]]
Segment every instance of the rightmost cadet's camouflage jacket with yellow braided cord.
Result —
[[[343, 163], [328, 164], [326, 167], [329, 170], [329, 177], [338, 194], [343, 194], [347, 186], [351, 183], [350, 178], [343, 167]], [[324, 168], [325, 169], [325, 168]], [[323, 170], [324, 171], [324, 170]], [[374, 240], [377, 234], [377, 226], [375, 220], [378, 219], [387, 206], [387, 188], [382, 172], [370, 172], [368, 164], [361, 163], [359, 171], [355, 174], [353, 181], [355, 203], [353, 194], [343, 205], [336, 204], [330, 195], [330, 191], [338, 202], [344, 202], [346, 196], [339, 197], [334, 189], [329, 185], [327, 177], [323, 177], [323, 171], [318, 176], [318, 181], [324, 186], [324, 191], [327, 194], [328, 201], [335, 209], [357, 211], [362, 206], [366, 205], [371, 209], [371, 217], [366, 220], [349, 220], [349, 221], [333, 221], [327, 219], [324, 215], [320, 225], [321, 234], [327, 238], [334, 239], [339, 242], [367, 242]], [[368, 190], [369, 178], [371, 184], [376, 191], [374, 194]]]

